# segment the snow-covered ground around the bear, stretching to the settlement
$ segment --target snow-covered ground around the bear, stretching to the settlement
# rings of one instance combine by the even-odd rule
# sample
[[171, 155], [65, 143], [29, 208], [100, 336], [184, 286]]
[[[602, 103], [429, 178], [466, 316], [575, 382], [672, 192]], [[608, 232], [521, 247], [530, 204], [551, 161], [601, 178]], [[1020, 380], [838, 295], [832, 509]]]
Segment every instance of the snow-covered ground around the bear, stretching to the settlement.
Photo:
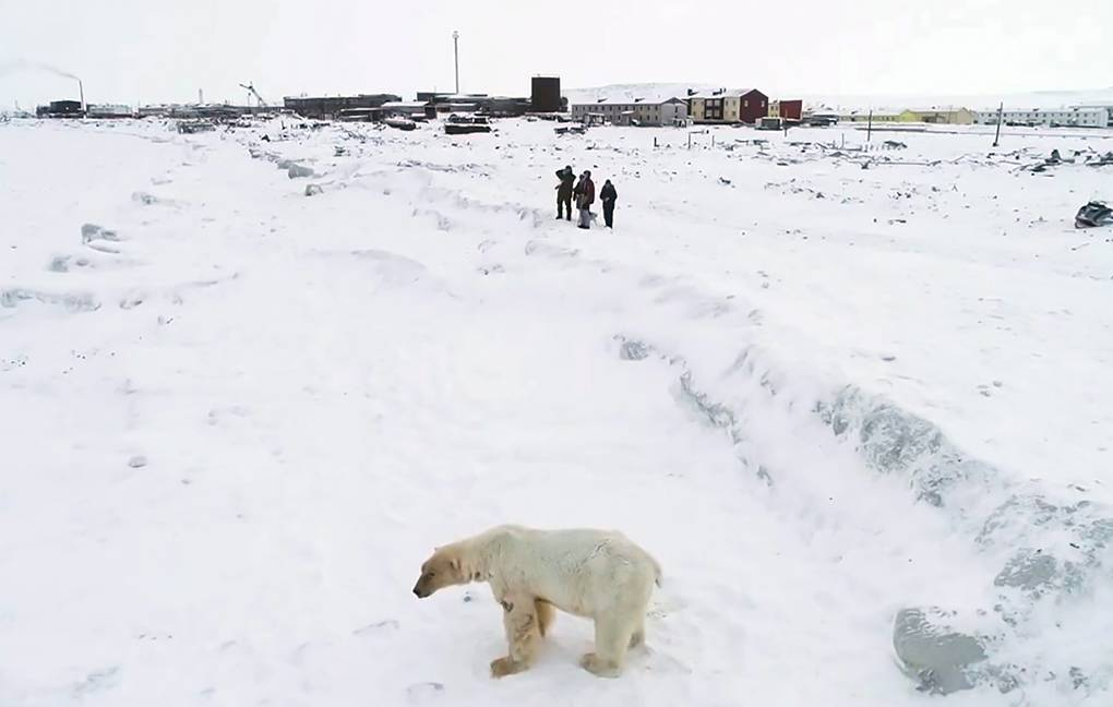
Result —
[[[1107, 705], [1113, 134], [991, 143], [0, 126], [0, 705]], [[413, 597], [502, 522], [657, 556], [621, 679]]]

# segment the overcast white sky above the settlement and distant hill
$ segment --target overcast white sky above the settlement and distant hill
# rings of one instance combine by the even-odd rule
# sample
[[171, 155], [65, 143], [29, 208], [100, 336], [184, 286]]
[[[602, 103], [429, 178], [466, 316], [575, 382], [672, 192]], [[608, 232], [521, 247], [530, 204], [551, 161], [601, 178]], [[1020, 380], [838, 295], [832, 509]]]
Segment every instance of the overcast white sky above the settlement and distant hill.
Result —
[[0, 106], [703, 82], [794, 95], [1113, 86], [1113, 0], [0, 0]]

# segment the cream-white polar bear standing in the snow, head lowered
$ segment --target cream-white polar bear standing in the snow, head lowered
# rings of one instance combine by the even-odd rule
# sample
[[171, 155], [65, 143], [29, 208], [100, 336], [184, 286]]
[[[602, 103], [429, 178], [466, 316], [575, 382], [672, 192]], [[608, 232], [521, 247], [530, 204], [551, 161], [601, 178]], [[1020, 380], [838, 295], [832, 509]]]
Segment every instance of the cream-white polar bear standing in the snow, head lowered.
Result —
[[499, 526], [436, 548], [421, 567], [414, 593], [424, 599], [474, 581], [487, 582], [503, 608], [510, 655], [491, 664], [493, 677], [530, 667], [554, 608], [594, 620], [595, 651], [580, 665], [618, 677], [627, 650], [646, 640], [646, 609], [661, 568], [617, 531]]

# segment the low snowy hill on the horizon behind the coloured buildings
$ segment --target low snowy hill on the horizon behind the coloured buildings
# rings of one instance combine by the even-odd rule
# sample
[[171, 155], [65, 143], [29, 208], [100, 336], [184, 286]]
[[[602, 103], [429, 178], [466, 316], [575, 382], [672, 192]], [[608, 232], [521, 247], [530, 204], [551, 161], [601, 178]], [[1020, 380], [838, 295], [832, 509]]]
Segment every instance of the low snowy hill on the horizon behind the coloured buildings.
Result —
[[[741, 86], [722, 86], [717, 84], [613, 84], [594, 88], [577, 88], [564, 91], [570, 104], [594, 102], [601, 98], [633, 99], [656, 96], [683, 98], [688, 89], [713, 90], [716, 88], [746, 88]], [[982, 94], [982, 95], [833, 95], [833, 94], [792, 94], [760, 88], [770, 98], [802, 98], [808, 106], [824, 106], [846, 110], [861, 108], [908, 108], [927, 106], [963, 106], [965, 108], [991, 108], [1004, 101], [1013, 108], [1053, 108], [1077, 104], [1111, 104], [1113, 105], [1113, 87], [1075, 91], [1032, 91], [1025, 94]]]

